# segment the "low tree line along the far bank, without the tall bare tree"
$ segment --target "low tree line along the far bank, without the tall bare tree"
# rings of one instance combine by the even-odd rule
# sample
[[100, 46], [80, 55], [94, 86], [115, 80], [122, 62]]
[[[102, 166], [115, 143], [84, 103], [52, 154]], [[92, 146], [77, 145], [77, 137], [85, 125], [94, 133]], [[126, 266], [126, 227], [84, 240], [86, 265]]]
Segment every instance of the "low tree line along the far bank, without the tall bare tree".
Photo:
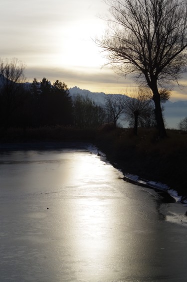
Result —
[[[171, 92], [159, 90], [161, 103]], [[26, 83], [24, 65], [16, 59], [0, 61], [0, 127], [39, 128], [74, 126], [98, 128], [104, 124], [116, 127], [127, 122], [137, 135], [138, 127], [157, 127], [155, 106], [148, 87], [139, 87], [127, 95], [104, 95], [102, 105], [88, 96], [72, 98], [68, 86], [59, 80], [53, 84], [45, 77]]]

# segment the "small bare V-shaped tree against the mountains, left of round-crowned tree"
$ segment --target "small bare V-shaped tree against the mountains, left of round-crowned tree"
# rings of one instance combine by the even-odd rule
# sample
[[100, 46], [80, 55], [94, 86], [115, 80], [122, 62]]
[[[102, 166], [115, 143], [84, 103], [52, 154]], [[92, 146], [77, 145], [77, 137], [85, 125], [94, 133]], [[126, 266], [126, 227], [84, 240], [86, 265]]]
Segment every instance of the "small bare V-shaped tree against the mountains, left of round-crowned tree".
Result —
[[121, 94], [107, 94], [104, 96], [104, 99], [107, 122], [112, 122], [116, 127], [117, 121], [125, 109], [126, 96]]

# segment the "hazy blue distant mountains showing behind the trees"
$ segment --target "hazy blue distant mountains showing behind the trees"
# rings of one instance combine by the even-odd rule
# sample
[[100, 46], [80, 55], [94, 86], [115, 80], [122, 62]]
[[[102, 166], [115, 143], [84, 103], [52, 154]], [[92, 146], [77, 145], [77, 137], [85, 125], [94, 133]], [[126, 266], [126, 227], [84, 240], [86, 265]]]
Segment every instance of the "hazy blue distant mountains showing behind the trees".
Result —
[[[83, 97], [88, 97], [96, 104], [103, 105], [104, 104], [104, 96], [108, 95], [103, 92], [91, 92], [89, 90], [83, 90], [78, 87], [73, 87], [69, 89], [70, 95], [75, 97], [77, 95], [81, 95]], [[122, 95], [122, 94], [116, 94]], [[164, 106], [164, 118], [166, 121], [166, 127], [171, 129], [177, 129], [178, 123], [187, 117], [187, 101], [177, 101], [171, 102], [167, 101]]]

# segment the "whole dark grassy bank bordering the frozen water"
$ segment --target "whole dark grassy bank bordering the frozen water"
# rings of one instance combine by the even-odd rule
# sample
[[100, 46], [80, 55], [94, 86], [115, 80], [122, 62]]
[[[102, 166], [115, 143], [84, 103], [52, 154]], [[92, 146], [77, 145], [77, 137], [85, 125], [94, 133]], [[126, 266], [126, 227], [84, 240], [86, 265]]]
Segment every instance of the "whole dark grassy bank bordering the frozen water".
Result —
[[99, 130], [42, 128], [0, 132], [0, 146], [7, 143], [46, 144], [55, 142], [92, 142], [107, 159], [124, 174], [138, 175], [141, 179], [162, 182], [179, 195], [187, 196], [187, 135], [168, 130], [168, 138], [159, 140], [153, 129], [140, 129], [138, 136], [132, 130], [105, 126]]

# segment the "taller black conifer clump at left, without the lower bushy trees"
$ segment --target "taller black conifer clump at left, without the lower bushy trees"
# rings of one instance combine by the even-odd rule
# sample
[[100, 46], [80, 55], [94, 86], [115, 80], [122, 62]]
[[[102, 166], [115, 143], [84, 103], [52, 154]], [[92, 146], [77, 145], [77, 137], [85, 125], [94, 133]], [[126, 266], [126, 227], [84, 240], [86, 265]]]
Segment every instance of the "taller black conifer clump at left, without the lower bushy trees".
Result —
[[73, 105], [65, 83], [43, 78], [31, 84], [7, 82], [0, 88], [0, 126], [37, 128], [73, 124]]

